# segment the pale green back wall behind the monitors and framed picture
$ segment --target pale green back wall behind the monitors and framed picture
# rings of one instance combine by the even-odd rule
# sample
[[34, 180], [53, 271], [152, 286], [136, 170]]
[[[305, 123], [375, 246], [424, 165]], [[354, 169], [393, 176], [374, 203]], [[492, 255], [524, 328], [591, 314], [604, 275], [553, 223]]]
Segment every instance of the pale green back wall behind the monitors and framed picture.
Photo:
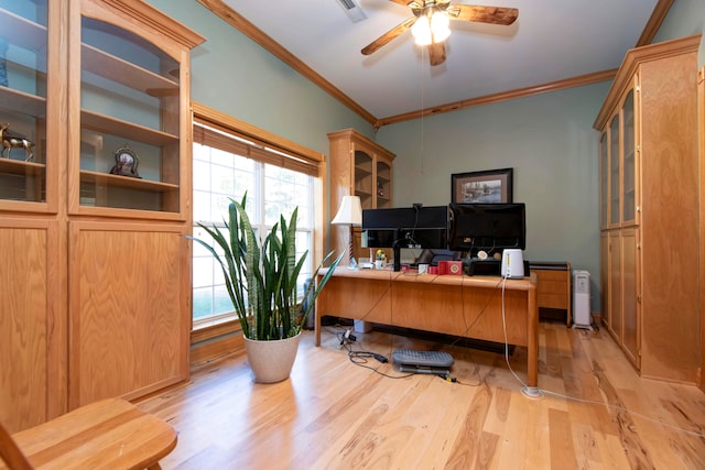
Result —
[[377, 140], [399, 155], [394, 204], [445, 205], [453, 173], [513, 168], [513, 200], [527, 205], [525, 259], [589, 271], [592, 308], [599, 311], [593, 122], [608, 89], [601, 83], [380, 129]]

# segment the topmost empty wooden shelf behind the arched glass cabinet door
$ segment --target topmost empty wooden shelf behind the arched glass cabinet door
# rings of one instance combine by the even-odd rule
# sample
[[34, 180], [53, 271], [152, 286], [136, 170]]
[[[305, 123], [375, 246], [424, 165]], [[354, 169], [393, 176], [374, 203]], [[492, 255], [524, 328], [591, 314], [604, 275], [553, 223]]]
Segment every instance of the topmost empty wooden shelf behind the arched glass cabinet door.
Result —
[[150, 96], [178, 96], [178, 84], [91, 45], [82, 44], [84, 69]]

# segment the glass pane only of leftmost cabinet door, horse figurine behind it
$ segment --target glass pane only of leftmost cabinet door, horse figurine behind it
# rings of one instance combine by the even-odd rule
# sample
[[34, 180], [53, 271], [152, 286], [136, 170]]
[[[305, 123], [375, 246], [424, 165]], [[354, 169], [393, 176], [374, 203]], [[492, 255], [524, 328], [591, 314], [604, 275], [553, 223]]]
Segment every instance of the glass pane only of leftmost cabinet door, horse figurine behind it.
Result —
[[46, 203], [47, 0], [0, 2], [0, 207]]

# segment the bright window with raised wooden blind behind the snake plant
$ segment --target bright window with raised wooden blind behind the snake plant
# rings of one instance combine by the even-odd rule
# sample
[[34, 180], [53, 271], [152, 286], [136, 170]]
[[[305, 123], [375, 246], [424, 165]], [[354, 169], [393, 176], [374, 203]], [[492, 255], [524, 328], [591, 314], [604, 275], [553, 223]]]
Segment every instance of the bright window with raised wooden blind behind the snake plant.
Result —
[[[319, 161], [323, 159], [321, 157]], [[271, 230], [280, 214], [286, 220], [299, 207], [296, 222], [297, 256], [308, 251], [299, 278], [300, 295], [311, 277], [316, 256], [315, 221], [322, 210], [315, 207], [319, 161], [297, 155], [281, 145], [243, 135], [236, 129], [196, 114], [193, 147], [193, 233], [208, 239], [198, 227], [214, 223], [225, 230], [230, 198], [241, 200], [247, 193], [248, 216], [258, 233]], [[316, 264], [317, 265], [317, 264]], [[220, 265], [198, 243], [193, 243], [194, 328], [234, 319], [232, 304], [225, 287]]]

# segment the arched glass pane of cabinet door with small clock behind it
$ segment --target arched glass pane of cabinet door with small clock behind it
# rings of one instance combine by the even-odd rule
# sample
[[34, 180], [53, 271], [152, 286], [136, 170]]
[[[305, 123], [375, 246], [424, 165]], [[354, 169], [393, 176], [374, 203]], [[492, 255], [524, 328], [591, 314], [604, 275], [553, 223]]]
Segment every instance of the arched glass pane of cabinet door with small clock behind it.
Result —
[[178, 212], [180, 64], [96, 19], [80, 39], [78, 205]]

